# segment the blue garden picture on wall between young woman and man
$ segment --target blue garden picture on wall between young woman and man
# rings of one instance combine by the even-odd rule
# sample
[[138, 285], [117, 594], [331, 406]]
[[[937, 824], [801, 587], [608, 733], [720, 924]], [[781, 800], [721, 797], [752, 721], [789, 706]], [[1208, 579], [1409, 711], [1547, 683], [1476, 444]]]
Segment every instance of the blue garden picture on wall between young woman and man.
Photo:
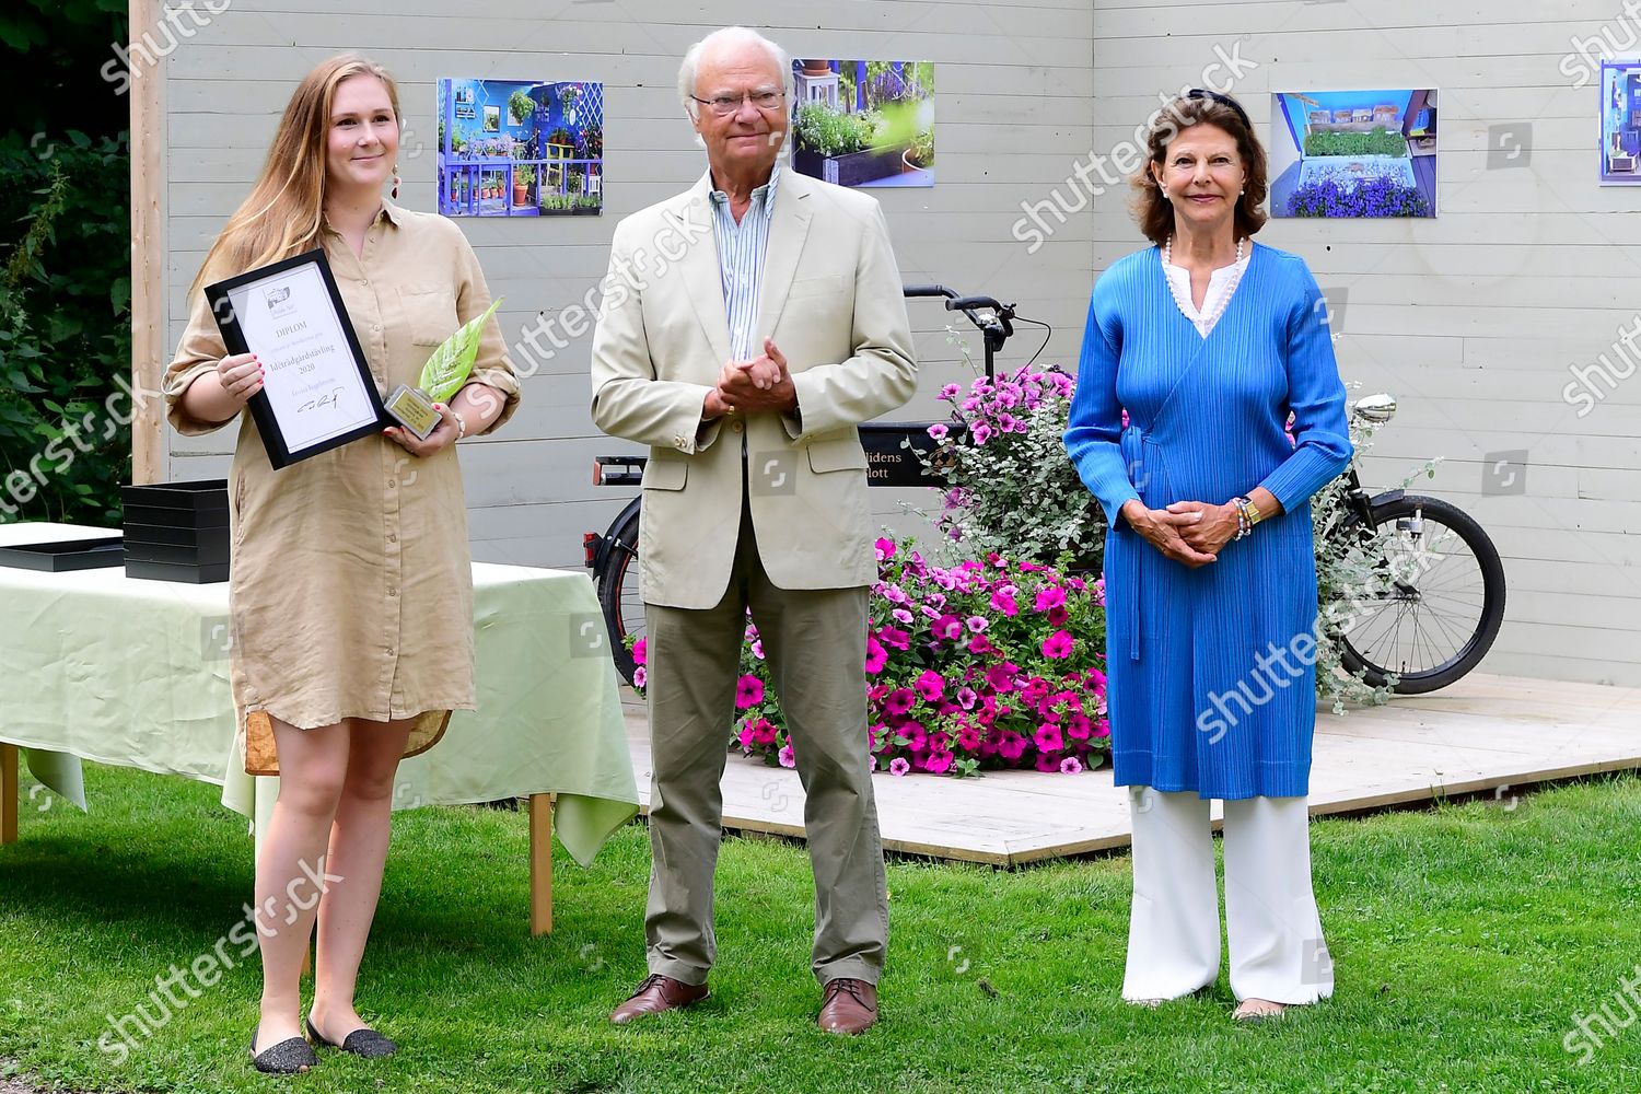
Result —
[[438, 212], [597, 215], [604, 208], [604, 85], [438, 82]]

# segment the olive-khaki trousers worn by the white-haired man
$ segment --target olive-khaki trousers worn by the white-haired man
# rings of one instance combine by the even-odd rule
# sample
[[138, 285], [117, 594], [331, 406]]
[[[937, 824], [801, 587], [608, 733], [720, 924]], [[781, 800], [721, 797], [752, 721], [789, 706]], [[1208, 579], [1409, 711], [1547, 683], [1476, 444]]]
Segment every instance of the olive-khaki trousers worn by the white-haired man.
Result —
[[876, 984], [889, 937], [888, 884], [866, 741], [866, 590], [776, 589], [743, 510], [729, 589], [706, 610], [647, 605], [651, 973], [702, 984], [717, 958], [712, 874], [720, 781], [735, 725], [747, 610], [763, 640], [804, 787], [816, 882], [814, 974]]

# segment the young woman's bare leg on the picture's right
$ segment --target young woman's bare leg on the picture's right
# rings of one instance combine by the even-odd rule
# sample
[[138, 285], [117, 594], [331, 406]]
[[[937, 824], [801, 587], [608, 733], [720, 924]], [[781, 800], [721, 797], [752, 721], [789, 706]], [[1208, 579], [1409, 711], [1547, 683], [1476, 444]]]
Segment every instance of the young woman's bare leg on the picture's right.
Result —
[[331, 886], [318, 909], [318, 956], [313, 964], [313, 1027], [333, 1043], [361, 1028], [353, 991], [371, 935], [392, 828], [394, 776], [415, 718], [366, 722], [350, 718], [348, 777], [330, 833]]

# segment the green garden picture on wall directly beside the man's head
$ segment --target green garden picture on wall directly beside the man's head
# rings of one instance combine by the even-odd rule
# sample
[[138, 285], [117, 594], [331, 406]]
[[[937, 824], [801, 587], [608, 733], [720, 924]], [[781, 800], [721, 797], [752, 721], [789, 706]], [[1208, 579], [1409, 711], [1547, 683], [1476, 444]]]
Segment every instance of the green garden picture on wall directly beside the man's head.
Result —
[[934, 64], [793, 61], [793, 169], [850, 187], [934, 185]]

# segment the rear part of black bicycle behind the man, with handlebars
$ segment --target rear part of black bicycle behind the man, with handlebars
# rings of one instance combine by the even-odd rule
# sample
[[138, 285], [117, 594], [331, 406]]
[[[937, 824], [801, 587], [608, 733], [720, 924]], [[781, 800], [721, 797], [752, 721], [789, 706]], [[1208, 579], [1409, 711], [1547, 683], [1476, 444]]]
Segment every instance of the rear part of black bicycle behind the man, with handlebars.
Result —
[[[942, 299], [947, 312], [962, 312], [981, 333], [985, 346], [985, 371], [996, 379], [996, 354], [1014, 336], [1014, 305], [993, 297], [960, 295], [945, 285], [903, 285], [907, 299]], [[860, 443], [866, 449], [866, 485], [906, 487], [942, 485], [924, 469], [922, 456], [934, 448], [929, 436], [932, 422], [865, 422], [860, 425]], [[953, 435], [967, 426], [948, 423]], [[594, 456], [594, 485], [640, 485], [643, 482], [645, 456]], [[581, 536], [586, 568], [599, 590], [599, 607], [610, 635], [610, 651], [615, 669], [629, 684], [633, 681], [632, 651], [627, 638], [643, 633], [643, 600], [638, 594], [638, 520], [640, 500], [635, 497], [615, 515], [604, 533], [587, 531]]]

